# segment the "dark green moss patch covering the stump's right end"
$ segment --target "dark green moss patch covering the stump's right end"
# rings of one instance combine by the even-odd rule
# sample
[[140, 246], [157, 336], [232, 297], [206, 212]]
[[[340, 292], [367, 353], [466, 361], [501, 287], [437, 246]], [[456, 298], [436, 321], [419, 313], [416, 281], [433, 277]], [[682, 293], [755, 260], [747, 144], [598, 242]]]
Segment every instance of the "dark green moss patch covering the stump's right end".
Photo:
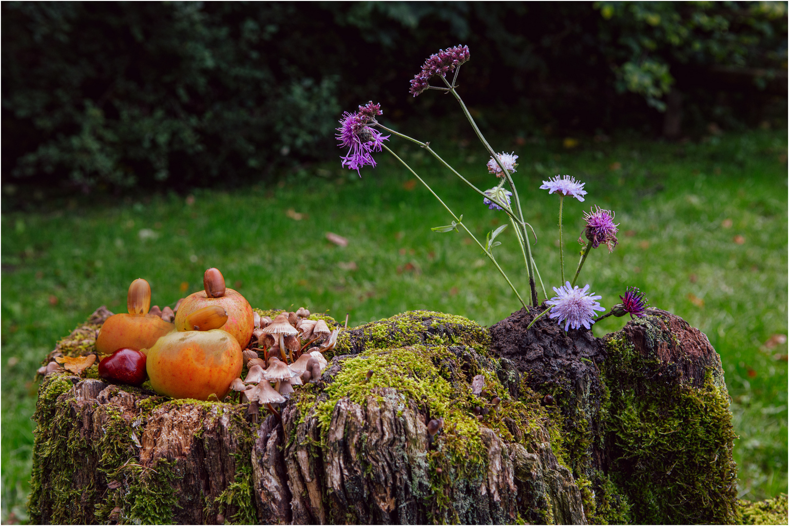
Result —
[[[706, 372], [704, 385], [656, 382], [655, 356], [608, 338], [601, 366], [610, 403], [604, 413], [608, 473], [640, 524], [731, 524], [735, 520], [735, 432], [729, 397]], [[647, 338], [656, 336], [647, 334]]]

